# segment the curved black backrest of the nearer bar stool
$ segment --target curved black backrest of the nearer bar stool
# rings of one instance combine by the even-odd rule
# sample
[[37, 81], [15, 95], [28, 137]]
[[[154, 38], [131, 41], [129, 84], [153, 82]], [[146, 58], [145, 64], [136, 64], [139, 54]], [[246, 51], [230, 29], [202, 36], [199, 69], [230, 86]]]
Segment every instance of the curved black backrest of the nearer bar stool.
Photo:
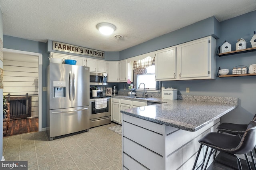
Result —
[[250, 121], [240, 144], [232, 150], [236, 152], [236, 154], [246, 154], [253, 150], [254, 146], [256, 146], [256, 122]]

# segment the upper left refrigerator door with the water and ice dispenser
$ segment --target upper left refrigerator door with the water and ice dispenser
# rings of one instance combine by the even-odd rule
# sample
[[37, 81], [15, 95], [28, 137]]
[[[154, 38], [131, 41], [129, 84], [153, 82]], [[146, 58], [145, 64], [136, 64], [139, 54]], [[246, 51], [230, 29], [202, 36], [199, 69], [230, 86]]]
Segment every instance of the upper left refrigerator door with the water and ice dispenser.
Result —
[[[49, 77], [50, 109], [72, 107], [72, 93], [70, 93], [70, 89], [72, 89], [72, 66], [50, 63]], [[60, 84], [59, 86], [58, 83]]]

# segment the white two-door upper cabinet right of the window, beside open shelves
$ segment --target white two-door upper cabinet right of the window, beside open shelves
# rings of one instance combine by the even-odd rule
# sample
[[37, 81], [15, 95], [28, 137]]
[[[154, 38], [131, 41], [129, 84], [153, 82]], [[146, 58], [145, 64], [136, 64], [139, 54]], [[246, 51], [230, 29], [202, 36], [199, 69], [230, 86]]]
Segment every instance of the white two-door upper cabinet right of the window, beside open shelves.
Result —
[[208, 36], [156, 51], [156, 80], [216, 79], [215, 49]]

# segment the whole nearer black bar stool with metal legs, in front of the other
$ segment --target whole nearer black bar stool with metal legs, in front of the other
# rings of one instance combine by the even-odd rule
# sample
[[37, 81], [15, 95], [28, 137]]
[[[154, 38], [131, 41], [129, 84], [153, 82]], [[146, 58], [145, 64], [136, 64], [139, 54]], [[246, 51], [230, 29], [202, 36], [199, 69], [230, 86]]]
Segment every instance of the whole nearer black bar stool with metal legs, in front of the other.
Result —
[[254, 146], [256, 145], [256, 122], [251, 121], [248, 124], [246, 131], [244, 132], [243, 135], [233, 136], [233, 135], [223, 134], [223, 133], [218, 133], [218, 132], [210, 132], [210, 133], [206, 134], [206, 136], [201, 138], [198, 142], [201, 145], [198, 150], [198, 154], [196, 156], [196, 160], [194, 162], [194, 166], [193, 166], [192, 170], [194, 170], [196, 167], [196, 163], [197, 163], [197, 160], [198, 160], [198, 157], [200, 155], [200, 151], [201, 151], [203, 145], [205, 145], [207, 147], [206, 153], [204, 154], [203, 162], [198, 166], [197, 169], [199, 169], [200, 167], [201, 167], [201, 170], [203, 169], [204, 162], [205, 162], [205, 159], [207, 156], [208, 148], [211, 148], [210, 154], [208, 156], [208, 160], [205, 164], [205, 168], [204, 168], [205, 170], [207, 168], [207, 164], [210, 159], [210, 156], [213, 153], [212, 150], [218, 150], [220, 152], [224, 152], [226, 154], [229, 154], [229, 155], [235, 157], [237, 160], [237, 165], [238, 165], [239, 170], [242, 170], [242, 166], [241, 166], [240, 159], [235, 154], [244, 154], [246, 157], [246, 162], [247, 162], [248, 168], [251, 170], [252, 168], [248, 161], [247, 153], [250, 152], [250, 154], [253, 158], [252, 150], [253, 150]]

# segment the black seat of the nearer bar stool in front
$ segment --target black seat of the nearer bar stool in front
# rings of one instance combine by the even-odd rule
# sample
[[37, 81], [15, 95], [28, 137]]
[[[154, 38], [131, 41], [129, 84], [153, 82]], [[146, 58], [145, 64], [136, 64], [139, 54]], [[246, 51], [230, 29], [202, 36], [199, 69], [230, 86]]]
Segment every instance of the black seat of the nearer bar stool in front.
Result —
[[239, 145], [241, 138], [240, 136], [232, 136], [230, 134], [210, 132], [201, 138], [198, 142], [218, 151], [224, 151], [233, 154], [234, 148]]

